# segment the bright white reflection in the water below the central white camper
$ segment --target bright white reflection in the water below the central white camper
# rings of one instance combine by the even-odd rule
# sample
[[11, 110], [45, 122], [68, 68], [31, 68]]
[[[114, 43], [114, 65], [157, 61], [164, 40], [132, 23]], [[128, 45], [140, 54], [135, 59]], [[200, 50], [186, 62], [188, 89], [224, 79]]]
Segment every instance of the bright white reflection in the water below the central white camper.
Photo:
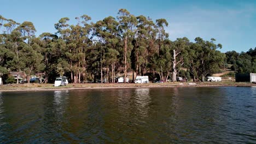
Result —
[[135, 89], [135, 106], [141, 117], [147, 117], [149, 111], [149, 103], [151, 101], [149, 88]]

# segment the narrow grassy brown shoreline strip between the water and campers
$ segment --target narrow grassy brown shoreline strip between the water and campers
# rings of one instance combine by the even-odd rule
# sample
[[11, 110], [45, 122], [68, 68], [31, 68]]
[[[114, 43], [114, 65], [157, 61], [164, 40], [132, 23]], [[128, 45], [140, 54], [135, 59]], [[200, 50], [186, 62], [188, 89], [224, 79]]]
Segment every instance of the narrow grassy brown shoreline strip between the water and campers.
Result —
[[[52, 84], [30, 84], [0, 86], [0, 92], [28, 92], [28, 91], [67, 91], [81, 89], [110, 89], [110, 88], [162, 88], [162, 87], [256, 87], [255, 83], [85, 83], [69, 84], [68, 86], [53, 87]], [[30, 86], [30, 87], [28, 87]]]

